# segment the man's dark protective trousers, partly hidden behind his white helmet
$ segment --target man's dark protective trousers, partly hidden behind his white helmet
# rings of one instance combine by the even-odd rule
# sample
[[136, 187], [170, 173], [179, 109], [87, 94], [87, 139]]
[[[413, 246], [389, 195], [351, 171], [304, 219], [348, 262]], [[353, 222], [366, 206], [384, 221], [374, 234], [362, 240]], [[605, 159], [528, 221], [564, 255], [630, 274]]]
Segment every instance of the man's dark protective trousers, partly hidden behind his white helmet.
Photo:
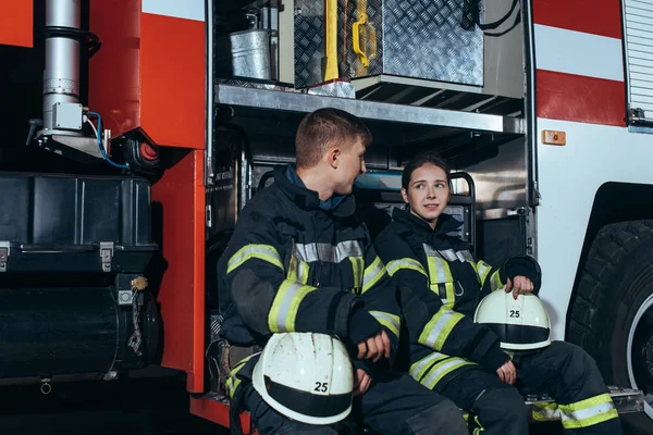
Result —
[[[352, 419], [382, 435], [467, 435], [458, 408], [441, 395], [424, 388], [410, 376], [387, 371], [377, 374], [370, 388], [355, 398]], [[245, 383], [243, 383], [245, 384]], [[345, 425], [318, 426], [289, 420], [268, 406], [251, 387], [241, 384], [244, 405], [261, 435], [346, 433]]]

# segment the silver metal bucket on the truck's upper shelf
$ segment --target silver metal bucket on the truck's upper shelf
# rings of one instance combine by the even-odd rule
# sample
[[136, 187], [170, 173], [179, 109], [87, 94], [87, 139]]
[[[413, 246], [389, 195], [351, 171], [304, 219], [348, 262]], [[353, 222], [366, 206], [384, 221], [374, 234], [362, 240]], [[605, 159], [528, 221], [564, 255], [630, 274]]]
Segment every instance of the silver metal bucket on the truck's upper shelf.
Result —
[[220, 78], [272, 79], [269, 30], [236, 32], [217, 38], [215, 74]]

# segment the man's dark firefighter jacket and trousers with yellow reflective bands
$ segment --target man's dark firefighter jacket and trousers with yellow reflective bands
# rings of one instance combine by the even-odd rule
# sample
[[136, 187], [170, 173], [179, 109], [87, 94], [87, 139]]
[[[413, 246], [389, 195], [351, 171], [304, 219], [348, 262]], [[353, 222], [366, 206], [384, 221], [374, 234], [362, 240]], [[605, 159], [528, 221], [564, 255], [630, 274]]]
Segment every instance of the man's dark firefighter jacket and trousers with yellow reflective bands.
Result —
[[[393, 372], [382, 358], [356, 360], [356, 345], [384, 330], [394, 358], [401, 309], [394, 282], [369, 233], [354, 215], [350, 196], [321, 201], [291, 166], [244, 208], [218, 262], [221, 334], [232, 345], [264, 346], [274, 333], [335, 334], [352, 349], [353, 365], [372, 375], [357, 398], [365, 424], [381, 434], [463, 434], [456, 406]], [[235, 365], [226, 382], [261, 433], [334, 433], [307, 426], [269, 407], [251, 388], [257, 357]]]

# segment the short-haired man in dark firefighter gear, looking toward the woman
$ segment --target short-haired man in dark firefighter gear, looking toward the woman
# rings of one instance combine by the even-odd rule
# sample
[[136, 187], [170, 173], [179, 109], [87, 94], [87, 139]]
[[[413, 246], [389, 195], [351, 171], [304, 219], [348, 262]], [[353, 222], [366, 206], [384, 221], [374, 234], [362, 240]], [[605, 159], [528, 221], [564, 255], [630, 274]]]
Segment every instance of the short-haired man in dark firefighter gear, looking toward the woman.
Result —
[[[401, 330], [396, 285], [350, 196], [371, 139], [360, 120], [341, 110], [320, 109], [301, 121], [296, 169], [274, 169], [274, 183], [243, 209], [218, 262], [221, 334], [235, 347], [264, 347], [278, 333], [335, 335], [349, 349], [353, 415], [364, 424], [380, 434], [466, 434], [452, 401], [391, 370]], [[235, 364], [225, 386], [259, 433], [336, 433], [267, 403], [251, 385], [258, 358]]]

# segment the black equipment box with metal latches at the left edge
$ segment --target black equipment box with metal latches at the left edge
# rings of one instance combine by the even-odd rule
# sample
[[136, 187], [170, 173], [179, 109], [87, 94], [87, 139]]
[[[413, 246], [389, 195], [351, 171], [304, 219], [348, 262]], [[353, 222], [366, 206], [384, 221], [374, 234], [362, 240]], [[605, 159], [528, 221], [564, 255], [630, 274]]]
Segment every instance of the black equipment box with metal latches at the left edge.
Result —
[[0, 273], [141, 273], [157, 249], [146, 179], [0, 172]]

